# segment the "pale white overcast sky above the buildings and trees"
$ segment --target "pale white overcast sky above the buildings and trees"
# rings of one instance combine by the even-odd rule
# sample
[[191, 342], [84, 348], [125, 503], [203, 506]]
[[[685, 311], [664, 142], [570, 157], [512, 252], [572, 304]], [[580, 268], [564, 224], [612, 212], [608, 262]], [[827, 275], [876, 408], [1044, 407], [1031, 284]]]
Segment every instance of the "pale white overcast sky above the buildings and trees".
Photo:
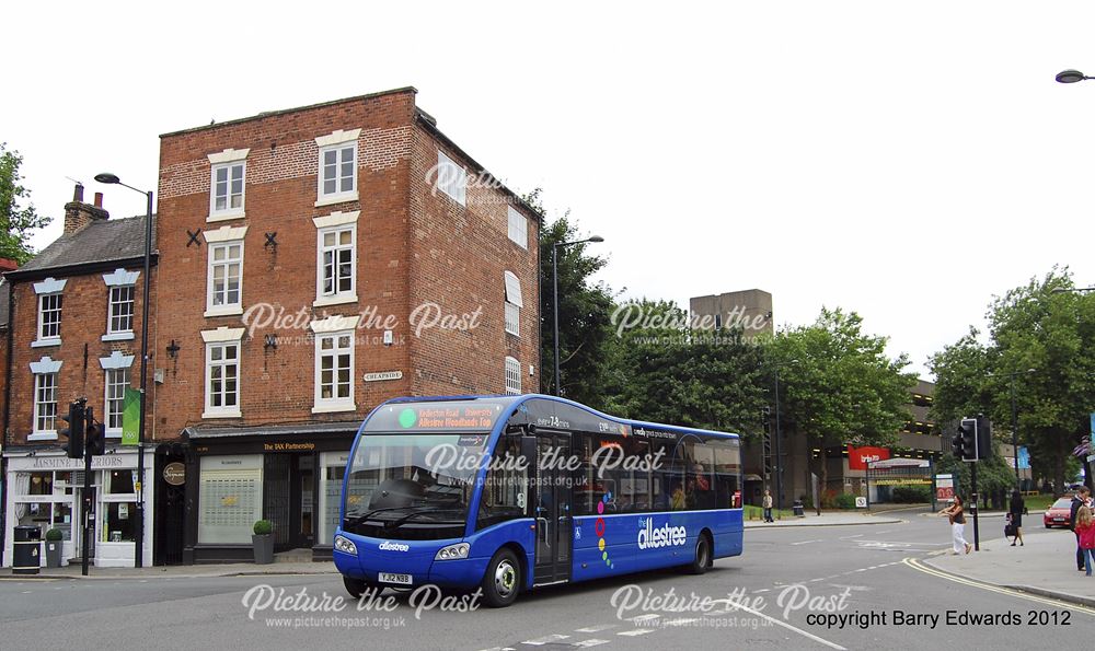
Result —
[[0, 141], [55, 217], [35, 245], [66, 177], [143, 213], [93, 177], [154, 189], [160, 133], [413, 85], [602, 235], [624, 297], [854, 310], [923, 374], [993, 294], [1053, 265], [1095, 284], [1095, 81], [1053, 81], [1095, 74], [1095, 3], [337, 4], [8, 7]]

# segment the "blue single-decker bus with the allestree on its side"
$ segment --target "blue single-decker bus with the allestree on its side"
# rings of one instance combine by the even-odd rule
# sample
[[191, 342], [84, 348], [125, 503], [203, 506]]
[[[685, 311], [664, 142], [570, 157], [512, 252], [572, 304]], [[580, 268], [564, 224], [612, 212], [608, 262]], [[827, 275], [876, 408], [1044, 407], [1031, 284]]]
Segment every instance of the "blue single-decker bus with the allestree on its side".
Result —
[[737, 434], [624, 420], [544, 395], [397, 398], [343, 478], [346, 590], [525, 590], [741, 554]]

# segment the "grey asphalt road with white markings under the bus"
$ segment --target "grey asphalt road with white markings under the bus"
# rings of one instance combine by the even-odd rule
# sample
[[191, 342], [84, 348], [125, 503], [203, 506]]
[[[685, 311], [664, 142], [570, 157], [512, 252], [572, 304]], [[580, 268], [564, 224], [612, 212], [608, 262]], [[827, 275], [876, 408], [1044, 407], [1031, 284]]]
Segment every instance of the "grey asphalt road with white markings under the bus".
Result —
[[[325, 574], [12, 578], [0, 581], [0, 646], [665, 651], [1025, 649], [1095, 639], [1095, 611], [918, 569], [915, 559], [949, 548], [949, 532], [938, 519], [906, 520], [747, 530], [745, 555], [721, 559], [701, 577], [665, 571], [546, 589], [500, 611], [460, 612], [468, 602], [458, 595], [441, 595], [448, 609], [417, 608], [422, 602], [391, 591], [362, 609], [354, 602], [337, 609], [341, 581]], [[280, 595], [280, 612], [262, 607], [269, 595]], [[389, 596], [392, 603], [383, 601]], [[996, 625], [948, 624], [948, 611], [992, 615]], [[1008, 614], [1016, 624], [1000, 620]], [[827, 626], [828, 615], [842, 616], [844, 626]]]

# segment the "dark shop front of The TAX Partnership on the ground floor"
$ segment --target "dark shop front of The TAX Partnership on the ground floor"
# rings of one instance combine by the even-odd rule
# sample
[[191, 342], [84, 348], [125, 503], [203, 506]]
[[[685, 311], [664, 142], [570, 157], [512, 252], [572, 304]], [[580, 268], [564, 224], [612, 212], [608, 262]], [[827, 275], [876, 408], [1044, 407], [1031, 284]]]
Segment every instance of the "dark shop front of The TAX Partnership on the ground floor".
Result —
[[188, 428], [184, 563], [253, 558], [258, 520], [274, 550], [331, 558], [342, 480], [359, 423]]

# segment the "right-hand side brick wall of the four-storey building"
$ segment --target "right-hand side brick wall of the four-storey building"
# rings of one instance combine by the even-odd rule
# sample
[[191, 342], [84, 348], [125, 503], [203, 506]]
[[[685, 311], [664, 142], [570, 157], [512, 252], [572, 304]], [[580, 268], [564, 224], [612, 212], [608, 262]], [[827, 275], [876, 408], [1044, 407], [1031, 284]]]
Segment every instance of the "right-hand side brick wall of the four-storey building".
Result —
[[[441, 149], [469, 174], [464, 206], [429, 183]], [[531, 213], [502, 189], [473, 183], [477, 171], [422, 126], [415, 128], [411, 174], [411, 291], [413, 303], [436, 302], [442, 314], [463, 316], [480, 311], [469, 330], [431, 328], [411, 341], [415, 362], [413, 391], [419, 395], [505, 393], [505, 358], [521, 362], [521, 388], [539, 386], [538, 246], [535, 219], [528, 219], [529, 247], [509, 240], [508, 207]], [[505, 329], [504, 272], [521, 281], [520, 336]], [[529, 365], [535, 375], [529, 375]]]

